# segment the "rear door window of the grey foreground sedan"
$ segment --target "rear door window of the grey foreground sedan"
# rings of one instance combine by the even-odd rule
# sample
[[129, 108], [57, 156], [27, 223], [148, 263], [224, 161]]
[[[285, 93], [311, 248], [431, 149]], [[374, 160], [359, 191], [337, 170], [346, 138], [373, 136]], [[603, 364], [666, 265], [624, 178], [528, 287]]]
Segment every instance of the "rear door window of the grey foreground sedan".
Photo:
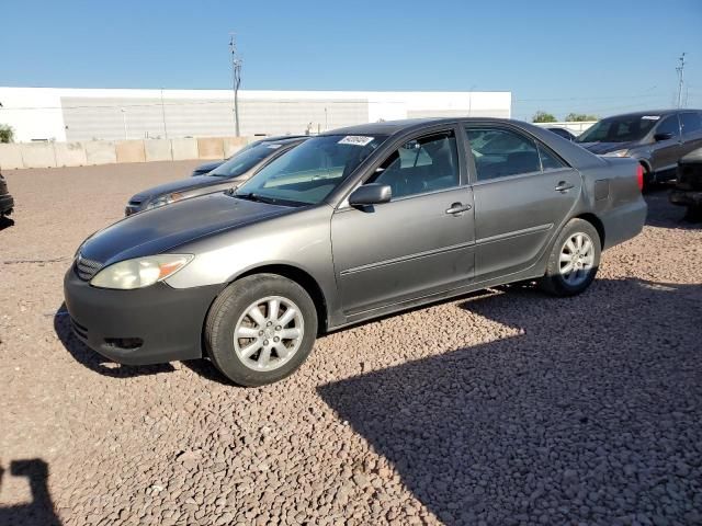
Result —
[[478, 181], [541, 172], [536, 144], [502, 128], [466, 128]]

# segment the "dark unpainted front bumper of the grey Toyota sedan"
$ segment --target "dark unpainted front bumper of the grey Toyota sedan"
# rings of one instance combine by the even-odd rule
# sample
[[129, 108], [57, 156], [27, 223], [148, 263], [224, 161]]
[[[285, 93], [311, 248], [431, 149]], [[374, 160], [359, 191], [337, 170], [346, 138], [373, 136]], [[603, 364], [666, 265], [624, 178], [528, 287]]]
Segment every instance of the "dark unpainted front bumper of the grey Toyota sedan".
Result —
[[127, 365], [202, 357], [205, 317], [220, 289], [220, 285], [178, 289], [165, 283], [135, 290], [97, 288], [80, 279], [72, 266], [64, 278], [76, 336]]

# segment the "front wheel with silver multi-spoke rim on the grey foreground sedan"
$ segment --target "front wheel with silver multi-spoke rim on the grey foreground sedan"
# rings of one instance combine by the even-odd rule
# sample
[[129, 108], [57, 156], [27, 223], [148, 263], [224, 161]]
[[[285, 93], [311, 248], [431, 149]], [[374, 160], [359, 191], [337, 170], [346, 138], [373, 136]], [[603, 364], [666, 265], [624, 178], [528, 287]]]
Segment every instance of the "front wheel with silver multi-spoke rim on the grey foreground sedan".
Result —
[[253, 387], [291, 375], [309, 355], [316, 335], [317, 311], [307, 291], [276, 274], [256, 274], [234, 282], [215, 299], [205, 347], [222, 374]]

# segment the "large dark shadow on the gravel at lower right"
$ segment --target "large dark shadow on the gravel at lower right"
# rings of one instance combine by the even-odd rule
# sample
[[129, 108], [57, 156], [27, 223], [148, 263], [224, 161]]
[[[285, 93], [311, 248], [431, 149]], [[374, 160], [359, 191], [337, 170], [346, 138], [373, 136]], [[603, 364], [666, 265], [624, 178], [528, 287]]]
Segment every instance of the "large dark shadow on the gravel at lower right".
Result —
[[[463, 308], [517, 335], [319, 395], [446, 525], [698, 519], [702, 286], [601, 279], [577, 302], [509, 290]], [[676, 316], [652, 329], [661, 308]]]

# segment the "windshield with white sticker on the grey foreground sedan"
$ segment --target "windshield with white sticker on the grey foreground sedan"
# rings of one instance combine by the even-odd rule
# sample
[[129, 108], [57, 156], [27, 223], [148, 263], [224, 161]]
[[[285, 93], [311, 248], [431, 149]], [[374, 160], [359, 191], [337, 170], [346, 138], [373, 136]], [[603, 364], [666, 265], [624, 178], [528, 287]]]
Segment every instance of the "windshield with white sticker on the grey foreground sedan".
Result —
[[283, 205], [319, 204], [386, 138], [313, 137], [264, 167], [234, 196]]

